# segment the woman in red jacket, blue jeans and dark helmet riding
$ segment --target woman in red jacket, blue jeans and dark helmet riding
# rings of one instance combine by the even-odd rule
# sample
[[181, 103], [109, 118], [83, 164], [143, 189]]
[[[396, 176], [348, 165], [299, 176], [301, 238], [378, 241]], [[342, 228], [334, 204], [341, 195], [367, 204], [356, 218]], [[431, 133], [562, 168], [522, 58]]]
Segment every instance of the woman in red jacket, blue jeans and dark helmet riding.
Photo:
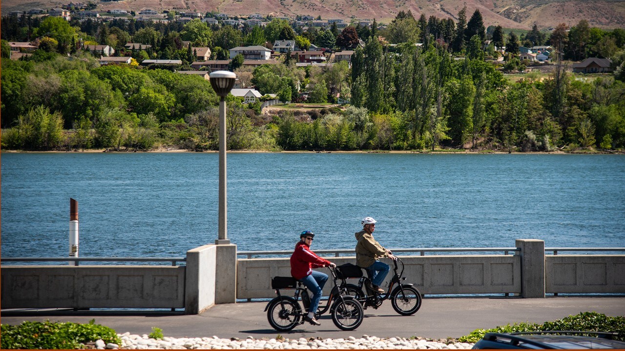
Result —
[[299, 241], [295, 245], [295, 251], [291, 255], [291, 275], [306, 285], [312, 292], [311, 305], [308, 309], [308, 315], [304, 317], [304, 320], [312, 325], [321, 325], [321, 323], [317, 322], [314, 318], [314, 314], [317, 312], [319, 300], [321, 300], [321, 293], [323, 285], [325, 285], [327, 281], [327, 274], [312, 269], [327, 267], [329, 265], [336, 267], [336, 264], [333, 264], [329, 260], [322, 259], [311, 251], [312, 237], [314, 237], [314, 234], [312, 234], [310, 230], [304, 230], [302, 234], [299, 235]]

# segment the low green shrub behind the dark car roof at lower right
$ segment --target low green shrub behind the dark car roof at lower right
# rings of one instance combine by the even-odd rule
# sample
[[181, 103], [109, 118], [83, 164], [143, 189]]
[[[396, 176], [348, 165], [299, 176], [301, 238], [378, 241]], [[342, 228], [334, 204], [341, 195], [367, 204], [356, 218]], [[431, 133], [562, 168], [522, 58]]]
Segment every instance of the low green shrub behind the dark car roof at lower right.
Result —
[[536, 332], [545, 330], [579, 330], [583, 332], [616, 332], [617, 340], [625, 341], [625, 317], [608, 317], [597, 312], [580, 312], [552, 322], [515, 323], [492, 329], [476, 329], [461, 337], [460, 342], [477, 342], [486, 333]]

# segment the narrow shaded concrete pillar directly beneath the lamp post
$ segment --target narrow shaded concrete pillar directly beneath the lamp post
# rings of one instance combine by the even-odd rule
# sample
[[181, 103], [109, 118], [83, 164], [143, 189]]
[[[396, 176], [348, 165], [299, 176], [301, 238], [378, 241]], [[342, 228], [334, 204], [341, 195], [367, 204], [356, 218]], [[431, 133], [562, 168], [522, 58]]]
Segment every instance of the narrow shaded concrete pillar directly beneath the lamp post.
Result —
[[236, 245], [216, 245], [215, 304], [236, 302]]

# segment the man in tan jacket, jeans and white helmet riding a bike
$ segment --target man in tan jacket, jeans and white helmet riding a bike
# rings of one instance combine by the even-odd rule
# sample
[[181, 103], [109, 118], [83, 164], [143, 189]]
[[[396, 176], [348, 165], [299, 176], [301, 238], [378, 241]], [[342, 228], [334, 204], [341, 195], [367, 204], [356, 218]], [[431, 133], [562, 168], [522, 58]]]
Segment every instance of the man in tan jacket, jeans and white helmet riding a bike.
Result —
[[356, 265], [358, 267], [366, 268], [371, 272], [371, 284], [370, 288], [376, 292], [384, 292], [380, 288], [384, 278], [389, 272], [389, 265], [384, 262], [380, 262], [380, 257], [388, 257], [394, 260], [395, 256], [392, 255], [391, 250], [385, 249], [376, 239], [373, 237], [373, 231], [376, 230], [377, 220], [371, 217], [366, 217], [362, 220], [362, 230], [356, 233]]

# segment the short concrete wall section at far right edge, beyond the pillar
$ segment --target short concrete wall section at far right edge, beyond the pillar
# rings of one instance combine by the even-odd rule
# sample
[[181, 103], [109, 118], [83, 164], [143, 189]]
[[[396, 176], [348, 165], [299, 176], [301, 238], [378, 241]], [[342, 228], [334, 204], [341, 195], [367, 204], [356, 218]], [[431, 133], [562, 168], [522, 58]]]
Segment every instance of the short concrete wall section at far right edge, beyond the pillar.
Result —
[[548, 293], [625, 292], [625, 255], [545, 257]]

